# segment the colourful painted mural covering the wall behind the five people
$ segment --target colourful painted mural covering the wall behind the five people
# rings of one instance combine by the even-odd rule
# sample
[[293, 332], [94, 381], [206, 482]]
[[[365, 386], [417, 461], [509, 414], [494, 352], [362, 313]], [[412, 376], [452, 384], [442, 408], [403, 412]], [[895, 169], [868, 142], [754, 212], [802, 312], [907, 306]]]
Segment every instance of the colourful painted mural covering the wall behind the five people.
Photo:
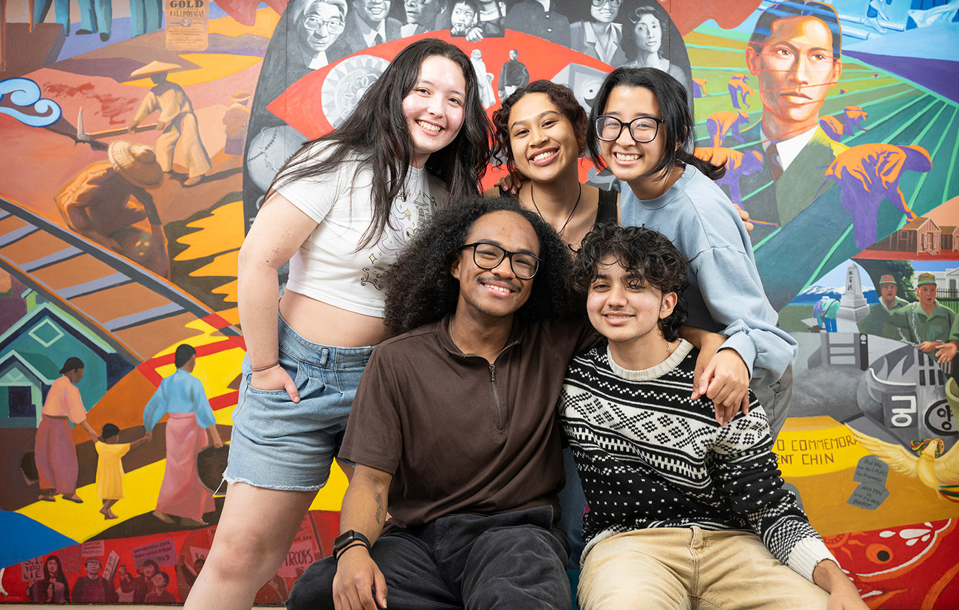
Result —
[[[784, 479], [871, 608], [959, 607], [959, 4], [787, 4], [807, 18], [784, 30], [766, 0], [0, 3], [0, 601], [186, 597], [222, 507], [246, 228], [435, 36], [490, 113], [535, 79], [588, 110], [611, 66], [687, 86], [800, 344]], [[192, 416], [166, 412], [174, 374]], [[257, 602], [332, 551], [345, 486]]]

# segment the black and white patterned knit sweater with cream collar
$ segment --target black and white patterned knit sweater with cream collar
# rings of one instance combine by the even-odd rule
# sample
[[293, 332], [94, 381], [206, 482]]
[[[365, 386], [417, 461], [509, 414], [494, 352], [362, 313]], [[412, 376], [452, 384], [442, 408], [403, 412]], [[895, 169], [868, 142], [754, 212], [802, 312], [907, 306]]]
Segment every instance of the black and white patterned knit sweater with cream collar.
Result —
[[698, 353], [683, 340], [633, 371], [596, 347], [570, 364], [559, 412], [589, 503], [583, 560], [623, 531], [698, 526], [755, 532], [811, 580], [832, 555], [783, 488], [766, 414], [750, 392], [749, 414], [720, 427], [712, 401], [690, 400]]

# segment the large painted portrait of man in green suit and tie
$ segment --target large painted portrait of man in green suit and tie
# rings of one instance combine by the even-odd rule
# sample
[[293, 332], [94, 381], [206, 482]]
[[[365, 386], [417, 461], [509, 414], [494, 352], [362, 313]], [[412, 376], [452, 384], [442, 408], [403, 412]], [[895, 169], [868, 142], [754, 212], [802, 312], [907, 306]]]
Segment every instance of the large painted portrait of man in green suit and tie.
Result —
[[739, 186], [748, 194], [743, 207], [756, 222], [750, 237], [760, 245], [763, 287], [777, 310], [815, 279], [829, 250], [810, 243], [797, 261], [782, 248], [803, 250], [799, 245], [810, 239], [835, 243], [852, 223], [823, 169], [848, 147], [819, 127], [823, 104], [842, 75], [841, 51], [836, 12], [812, 0], [784, 0], [761, 12], [746, 48], [762, 119], [742, 137], [753, 142], [747, 151], [761, 153], [763, 163]]

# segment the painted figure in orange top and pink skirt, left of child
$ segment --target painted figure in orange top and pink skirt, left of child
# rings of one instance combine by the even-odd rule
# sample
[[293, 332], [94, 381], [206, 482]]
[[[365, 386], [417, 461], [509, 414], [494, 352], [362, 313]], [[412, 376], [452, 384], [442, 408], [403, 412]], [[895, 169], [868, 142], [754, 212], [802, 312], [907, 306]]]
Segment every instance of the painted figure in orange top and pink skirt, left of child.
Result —
[[82, 504], [77, 495], [77, 449], [74, 446], [70, 423], [82, 426], [90, 440], [97, 442], [97, 433], [86, 423], [86, 410], [77, 384], [83, 379], [83, 361], [76, 357], [66, 359], [60, 369], [62, 377], [53, 383], [40, 411], [36, 427], [34, 456], [40, 475], [39, 500], [54, 502], [60, 493], [63, 500]]

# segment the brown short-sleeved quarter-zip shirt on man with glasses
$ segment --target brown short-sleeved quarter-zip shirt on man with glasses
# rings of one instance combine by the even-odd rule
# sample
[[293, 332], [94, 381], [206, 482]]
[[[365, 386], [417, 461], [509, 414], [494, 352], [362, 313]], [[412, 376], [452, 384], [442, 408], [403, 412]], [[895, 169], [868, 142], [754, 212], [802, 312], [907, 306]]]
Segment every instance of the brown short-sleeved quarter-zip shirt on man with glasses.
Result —
[[370, 357], [339, 455], [391, 473], [389, 525], [550, 504], [563, 457], [556, 401], [573, 356], [596, 343], [583, 319], [515, 320], [493, 364], [463, 354], [439, 322]]

